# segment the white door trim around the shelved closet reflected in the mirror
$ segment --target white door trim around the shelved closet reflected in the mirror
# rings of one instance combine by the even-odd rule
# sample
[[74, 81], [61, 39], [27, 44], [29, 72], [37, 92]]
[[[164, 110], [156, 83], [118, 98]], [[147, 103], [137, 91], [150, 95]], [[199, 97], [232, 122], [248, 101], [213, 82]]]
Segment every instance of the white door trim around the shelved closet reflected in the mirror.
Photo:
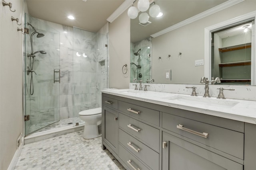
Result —
[[[242, 16], [238, 16], [236, 18], [232, 18], [227, 21], [223, 21], [221, 23], [217, 23], [215, 25], [212, 25], [210, 27], [204, 28], [204, 75], [206, 77], [211, 77], [211, 33], [212, 31], [218, 30], [223, 27], [227, 27], [229, 25], [233, 25], [242, 21], [246, 20], [256, 20], [256, 11], [250, 12], [248, 14], [244, 14]], [[255, 48], [255, 42], [256, 42], [256, 27], [252, 25], [252, 59], [251, 59], [251, 86], [256, 85], [256, 74], [254, 73], [256, 68], [256, 48]]]

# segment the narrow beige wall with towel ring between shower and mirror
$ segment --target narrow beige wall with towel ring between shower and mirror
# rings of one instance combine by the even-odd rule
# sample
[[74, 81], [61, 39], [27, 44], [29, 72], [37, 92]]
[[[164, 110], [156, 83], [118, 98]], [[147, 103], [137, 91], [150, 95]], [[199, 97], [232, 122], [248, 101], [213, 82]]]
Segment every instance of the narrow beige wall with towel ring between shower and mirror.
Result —
[[[126, 74], [122, 66], [128, 65]], [[129, 88], [130, 82], [130, 18], [127, 11], [109, 24], [109, 87]]]

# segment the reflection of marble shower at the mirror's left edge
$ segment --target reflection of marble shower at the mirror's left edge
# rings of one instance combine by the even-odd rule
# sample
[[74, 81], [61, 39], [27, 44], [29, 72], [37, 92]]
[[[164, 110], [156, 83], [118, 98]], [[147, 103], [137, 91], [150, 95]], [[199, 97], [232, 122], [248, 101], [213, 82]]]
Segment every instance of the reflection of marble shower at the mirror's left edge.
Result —
[[130, 82], [134, 78], [146, 82], [151, 77], [151, 38], [131, 43], [130, 51]]

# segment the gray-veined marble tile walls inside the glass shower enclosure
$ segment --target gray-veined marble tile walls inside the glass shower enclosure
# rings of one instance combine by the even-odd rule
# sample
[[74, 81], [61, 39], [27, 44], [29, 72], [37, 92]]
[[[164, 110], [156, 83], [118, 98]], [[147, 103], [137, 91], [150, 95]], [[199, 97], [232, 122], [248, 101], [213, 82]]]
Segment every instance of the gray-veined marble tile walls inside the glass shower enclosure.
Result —
[[[32, 96], [30, 76], [26, 76], [26, 112], [30, 112], [30, 123], [76, 117], [81, 110], [100, 107], [100, 90], [107, 87], [107, 35], [27, 18], [45, 34], [42, 38], [34, 35], [34, 51], [47, 53], [37, 53], [34, 58], [37, 75], [33, 74]], [[26, 54], [31, 53], [29, 36], [26, 35]], [[24, 58], [29, 66], [28, 57]], [[53, 83], [54, 69], [60, 69], [60, 84]], [[55, 75], [58, 80], [58, 73]]]

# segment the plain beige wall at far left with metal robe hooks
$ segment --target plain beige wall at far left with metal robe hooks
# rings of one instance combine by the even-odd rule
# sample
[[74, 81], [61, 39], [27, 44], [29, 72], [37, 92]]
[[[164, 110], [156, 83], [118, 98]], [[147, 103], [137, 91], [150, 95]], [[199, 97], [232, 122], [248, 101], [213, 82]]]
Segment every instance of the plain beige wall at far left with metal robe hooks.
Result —
[[22, 21], [23, 1], [1, 5], [0, 12], [0, 169], [6, 170], [17, 147], [16, 140], [22, 133], [22, 33], [16, 21]]

